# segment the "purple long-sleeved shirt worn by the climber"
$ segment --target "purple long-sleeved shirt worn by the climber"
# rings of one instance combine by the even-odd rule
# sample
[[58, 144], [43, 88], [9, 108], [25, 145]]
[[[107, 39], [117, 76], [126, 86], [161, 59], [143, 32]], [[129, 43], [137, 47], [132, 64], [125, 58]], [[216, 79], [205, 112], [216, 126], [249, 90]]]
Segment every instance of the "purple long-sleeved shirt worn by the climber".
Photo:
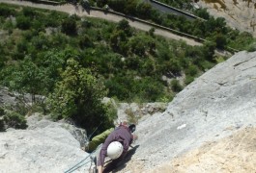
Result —
[[133, 136], [129, 132], [127, 126], [120, 125], [118, 128], [116, 128], [109, 136], [107, 136], [101, 147], [98, 159], [98, 166], [103, 166], [106, 157], [107, 147], [112, 141], [119, 141], [120, 143], [122, 143], [124, 147], [122, 155], [124, 156], [128, 152], [128, 146], [132, 142], [132, 137]]

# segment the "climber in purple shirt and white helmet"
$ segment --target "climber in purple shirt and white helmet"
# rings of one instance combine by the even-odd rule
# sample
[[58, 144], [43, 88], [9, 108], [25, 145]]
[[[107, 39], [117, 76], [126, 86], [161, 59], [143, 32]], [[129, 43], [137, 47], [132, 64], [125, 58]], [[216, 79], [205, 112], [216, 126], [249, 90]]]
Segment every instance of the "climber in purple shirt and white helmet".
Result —
[[98, 171], [102, 173], [105, 157], [111, 160], [125, 158], [128, 147], [137, 136], [132, 135], [136, 126], [125, 121], [120, 124], [107, 138], [105, 139], [99, 154]]

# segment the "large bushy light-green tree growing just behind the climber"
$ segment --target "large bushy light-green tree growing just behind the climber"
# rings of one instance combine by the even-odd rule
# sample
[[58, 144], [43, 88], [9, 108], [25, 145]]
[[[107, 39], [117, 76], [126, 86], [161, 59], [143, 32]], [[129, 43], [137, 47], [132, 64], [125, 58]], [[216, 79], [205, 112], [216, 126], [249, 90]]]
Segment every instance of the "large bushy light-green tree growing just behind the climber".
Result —
[[107, 90], [100, 76], [94, 76], [90, 69], [70, 59], [61, 77], [49, 101], [55, 118], [72, 118], [89, 131], [100, 122], [103, 122], [100, 128], [112, 123], [113, 113], [107, 114], [109, 111], [101, 102]]

